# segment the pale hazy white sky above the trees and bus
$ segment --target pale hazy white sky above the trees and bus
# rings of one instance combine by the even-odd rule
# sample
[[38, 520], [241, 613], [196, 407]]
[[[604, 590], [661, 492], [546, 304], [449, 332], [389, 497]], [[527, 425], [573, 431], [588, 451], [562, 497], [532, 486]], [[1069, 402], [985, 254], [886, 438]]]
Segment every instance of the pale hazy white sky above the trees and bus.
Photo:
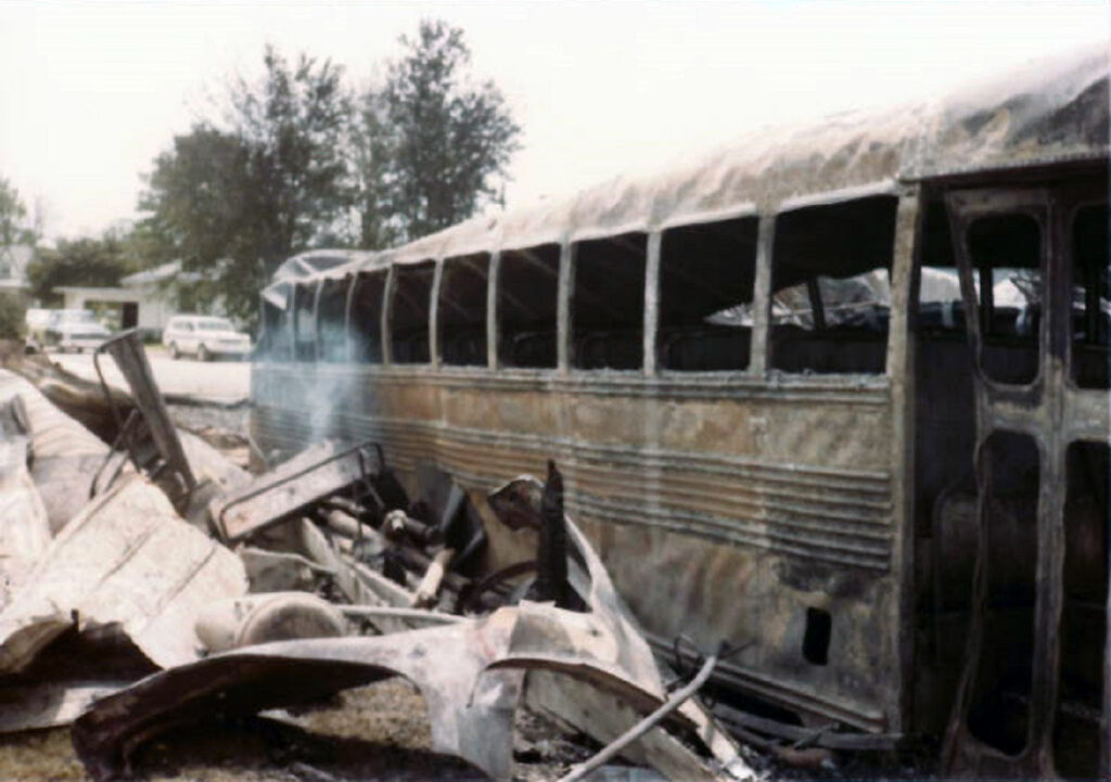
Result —
[[422, 17], [461, 26], [524, 128], [509, 202], [642, 170], [752, 126], [929, 96], [1107, 40], [1108, 0], [1038, 2], [12, 2], [0, 176], [50, 235], [134, 217], [141, 174], [262, 49], [352, 83]]

